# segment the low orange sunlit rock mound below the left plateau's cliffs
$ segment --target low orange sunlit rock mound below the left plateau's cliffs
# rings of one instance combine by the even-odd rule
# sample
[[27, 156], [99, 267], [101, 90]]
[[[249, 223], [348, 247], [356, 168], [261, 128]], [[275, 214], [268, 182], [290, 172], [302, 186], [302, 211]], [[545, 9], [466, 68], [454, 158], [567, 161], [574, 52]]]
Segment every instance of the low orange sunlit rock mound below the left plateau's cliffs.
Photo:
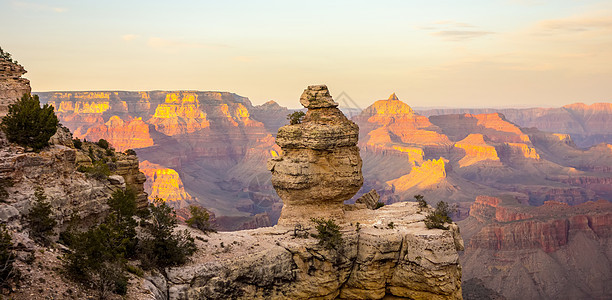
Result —
[[140, 118], [123, 121], [112, 116], [103, 125], [90, 127], [80, 136], [90, 141], [107, 140], [117, 151], [153, 146], [149, 125]]

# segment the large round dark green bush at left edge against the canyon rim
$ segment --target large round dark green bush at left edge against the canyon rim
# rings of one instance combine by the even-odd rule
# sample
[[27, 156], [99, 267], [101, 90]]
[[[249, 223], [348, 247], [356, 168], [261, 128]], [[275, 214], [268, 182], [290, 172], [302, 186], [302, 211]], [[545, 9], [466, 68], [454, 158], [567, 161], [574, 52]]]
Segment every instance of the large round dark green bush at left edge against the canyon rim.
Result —
[[53, 106], [40, 107], [38, 95], [24, 94], [9, 105], [8, 114], [2, 119], [2, 130], [10, 142], [38, 151], [49, 145], [49, 139], [57, 131], [59, 121]]

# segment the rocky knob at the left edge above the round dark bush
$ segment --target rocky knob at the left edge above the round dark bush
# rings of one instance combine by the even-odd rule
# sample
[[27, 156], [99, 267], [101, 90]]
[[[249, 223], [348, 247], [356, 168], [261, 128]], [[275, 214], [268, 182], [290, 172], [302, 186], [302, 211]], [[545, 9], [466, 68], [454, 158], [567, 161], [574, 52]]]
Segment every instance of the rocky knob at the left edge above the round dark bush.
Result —
[[0, 57], [0, 117], [6, 116], [10, 104], [30, 93], [30, 81], [21, 78], [26, 72], [23, 66]]

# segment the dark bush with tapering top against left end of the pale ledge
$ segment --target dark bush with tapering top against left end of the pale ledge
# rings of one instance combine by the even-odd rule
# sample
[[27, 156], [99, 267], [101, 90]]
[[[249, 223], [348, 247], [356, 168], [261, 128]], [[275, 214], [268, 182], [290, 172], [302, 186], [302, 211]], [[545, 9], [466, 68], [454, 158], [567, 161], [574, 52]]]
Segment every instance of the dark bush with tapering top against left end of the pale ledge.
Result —
[[197, 248], [187, 230], [174, 233], [178, 224], [174, 209], [156, 198], [149, 211], [151, 217], [144, 224], [145, 237], [139, 247], [143, 267], [163, 270], [187, 262]]

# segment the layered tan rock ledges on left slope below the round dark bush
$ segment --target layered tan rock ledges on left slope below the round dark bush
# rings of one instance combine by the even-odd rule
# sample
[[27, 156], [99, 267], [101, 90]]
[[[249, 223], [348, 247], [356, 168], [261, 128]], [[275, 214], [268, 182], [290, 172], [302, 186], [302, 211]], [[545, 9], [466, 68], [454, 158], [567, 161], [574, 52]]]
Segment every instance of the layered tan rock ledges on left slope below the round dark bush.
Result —
[[[126, 184], [136, 190], [141, 205], [142, 197], [145, 198], [146, 205], [142, 188], [144, 175], [138, 171], [136, 157], [125, 156], [117, 160], [118, 168], [114, 173], [123, 178], [123, 182], [119, 182], [97, 180], [78, 172], [77, 153], [78, 150], [63, 145], [51, 146], [40, 153], [24, 153], [23, 148], [17, 146], [0, 148], [0, 176], [13, 182], [13, 186], [4, 188], [8, 197], [0, 207], [6, 212], [16, 209], [23, 215], [30, 209], [36, 189], [40, 188], [52, 205], [60, 229], [65, 229], [66, 222], [75, 215], [85, 225], [103, 217], [108, 210], [107, 199], [114, 190], [125, 188]], [[19, 220], [11, 219], [11, 215], [9, 220], [3, 221], [15, 221], [9, 224], [19, 226]]]

